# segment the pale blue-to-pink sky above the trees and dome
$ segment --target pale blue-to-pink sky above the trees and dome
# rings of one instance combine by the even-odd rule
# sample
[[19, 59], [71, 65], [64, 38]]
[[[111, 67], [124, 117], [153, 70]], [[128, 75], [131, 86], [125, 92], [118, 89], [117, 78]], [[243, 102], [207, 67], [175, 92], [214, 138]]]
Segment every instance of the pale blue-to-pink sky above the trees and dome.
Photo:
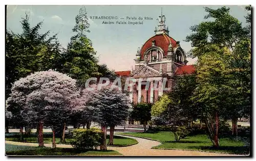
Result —
[[[51, 35], [58, 33], [57, 37], [62, 47], [67, 47], [71, 36], [75, 33], [72, 28], [75, 25], [75, 16], [81, 6], [8, 6], [7, 8], [7, 30], [20, 33], [21, 17], [25, 11], [30, 13], [31, 24], [35, 26], [39, 21], [44, 20], [41, 33], [50, 30]], [[207, 14], [203, 7], [218, 8], [221, 6], [86, 6], [88, 17], [90, 16], [126, 16], [136, 17], [143, 21], [143, 25], [108, 25], [102, 24], [102, 20], [90, 19], [91, 33], [87, 33], [88, 38], [93, 42], [93, 47], [97, 52], [100, 63], [105, 63], [111, 70], [126, 71], [132, 70], [135, 65], [134, 59], [138, 48], [147, 39], [154, 36], [155, 27], [158, 25], [156, 20], [161, 15], [166, 17], [165, 24], [169, 29], [169, 36], [176, 41], [180, 41], [181, 48], [185, 52], [191, 49], [189, 42], [183, 41], [191, 33], [190, 26], [198, 25], [204, 21]], [[245, 26], [244, 16], [248, 13], [245, 6], [230, 7], [230, 14], [238, 18]], [[138, 20], [138, 17], [152, 17], [153, 20]], [[105, 20], [108, 21], [108, 20]], [[115, 23], [117, 20], [113, 20]], [[188, 64], [194, 64], [196, 59], [188, 58]]]

